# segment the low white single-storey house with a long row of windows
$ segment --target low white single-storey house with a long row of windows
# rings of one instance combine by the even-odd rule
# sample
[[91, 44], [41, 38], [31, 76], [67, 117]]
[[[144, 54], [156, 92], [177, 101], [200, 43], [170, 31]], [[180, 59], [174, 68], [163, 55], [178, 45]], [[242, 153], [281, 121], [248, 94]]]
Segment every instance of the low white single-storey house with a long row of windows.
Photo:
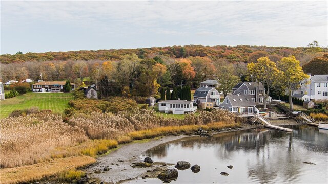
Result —
[[158, 111], [173, 114], [195, 113], [197, 107], [187, 100], [165, 100], [158, 102]]

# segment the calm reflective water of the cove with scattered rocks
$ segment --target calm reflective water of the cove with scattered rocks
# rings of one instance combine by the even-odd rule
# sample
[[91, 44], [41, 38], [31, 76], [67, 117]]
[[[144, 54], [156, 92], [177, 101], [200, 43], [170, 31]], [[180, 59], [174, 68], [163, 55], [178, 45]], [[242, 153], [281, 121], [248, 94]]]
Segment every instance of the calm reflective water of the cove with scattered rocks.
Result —
[[[306, 125], [291, 128], [289, 133], [251, 129], [212, 138], [187, 137], [149, 149], [140, 158], [166, 163], [185, 160], [200, 166], [198, 173], [178, 170], [178, 179], [171, 183], [328, 183], [328, 130]], [[229, 176], [222, 176], [223, 171]], [[162, 183], [157, 178], [130, 182], [145, 181]]]

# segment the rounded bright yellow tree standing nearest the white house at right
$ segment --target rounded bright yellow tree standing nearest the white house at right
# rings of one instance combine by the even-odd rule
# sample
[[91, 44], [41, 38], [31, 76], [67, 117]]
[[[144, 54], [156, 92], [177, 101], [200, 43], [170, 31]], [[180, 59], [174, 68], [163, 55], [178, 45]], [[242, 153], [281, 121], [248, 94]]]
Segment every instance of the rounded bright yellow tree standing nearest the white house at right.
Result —
[[277, 68], [280, 70], [278, 82], [280, 86], [286, 90], [289, 96], [289, 106], [293, 109], [293, 93], [300, 88], [301, 83], [308, 79], [309, 75], [303, 72], [300, 62], [294, 56], [283, 57], [277, 63]]

